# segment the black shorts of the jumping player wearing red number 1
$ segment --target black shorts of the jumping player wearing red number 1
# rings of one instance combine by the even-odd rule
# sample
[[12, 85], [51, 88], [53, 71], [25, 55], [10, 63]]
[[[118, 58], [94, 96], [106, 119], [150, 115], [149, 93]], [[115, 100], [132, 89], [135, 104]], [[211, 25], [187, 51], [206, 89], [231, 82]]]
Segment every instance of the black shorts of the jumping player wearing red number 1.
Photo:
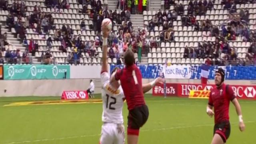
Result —
[[128, 128], [138, 130], [148, 120], [148, 106], [142, 105], [129, 110]]

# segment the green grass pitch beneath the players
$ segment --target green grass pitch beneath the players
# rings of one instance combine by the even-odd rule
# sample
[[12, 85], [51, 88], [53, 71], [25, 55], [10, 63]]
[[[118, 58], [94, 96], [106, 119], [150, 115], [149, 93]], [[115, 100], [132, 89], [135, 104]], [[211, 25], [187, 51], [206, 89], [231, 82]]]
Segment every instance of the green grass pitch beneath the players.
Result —
[[[97, 96], [100, 98], [99, 96]], [[206, 115], [207, 100], [146, 95], [150, 116], [141, 128], [139, 144], [210, 144], [213, 118]], [[13, 102], [58, 100], [59, 97], [0, 98], [0, 144], [98, 144], [102, 104], [4, 106]], [[246, 131], [230, 104], [228, 144], [256, 143], [256, 101], [240, 100]], [[124, 124], [127, 123], [124, 104]]]

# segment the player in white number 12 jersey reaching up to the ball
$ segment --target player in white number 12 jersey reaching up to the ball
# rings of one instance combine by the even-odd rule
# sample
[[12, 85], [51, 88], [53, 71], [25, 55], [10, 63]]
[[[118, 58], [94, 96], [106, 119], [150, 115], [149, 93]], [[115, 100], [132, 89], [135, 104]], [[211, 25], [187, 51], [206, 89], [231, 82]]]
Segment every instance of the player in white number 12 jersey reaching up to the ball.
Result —
[[[124, 92], [119, 82], [110, 83], [110, 75], [108, 74], [107, 63], [107, 38], [109, 32], [105, 25], [102, 25], [103, 44], [102, 44], [102, 68], [100, 79], [102, 83], [102, 131], [100, 144], [124, 144], [124, 119], [122, 115]], [[112, 70], [111, 75], [114, 75], [118, 68]], [[155, 84], [162, 84], [162, 78], [156, 78], [153, 82], [142, 85], [143, 92], [148, 92]]]

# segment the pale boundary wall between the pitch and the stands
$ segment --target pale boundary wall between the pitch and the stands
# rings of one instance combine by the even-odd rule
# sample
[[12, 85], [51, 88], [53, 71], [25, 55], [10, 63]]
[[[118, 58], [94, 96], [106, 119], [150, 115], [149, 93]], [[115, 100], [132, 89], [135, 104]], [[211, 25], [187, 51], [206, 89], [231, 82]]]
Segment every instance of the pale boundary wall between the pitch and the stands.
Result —
[[[98, 72], [98, 71], [97, 71]], [[95, 84], [95, 93], [101, 92], [99, 78], [92, 78]], [[151, 79], [152, 80], [152, 79]], [[150, 79], [143, 79], [148, 83]], [[70, 79], [70, 80], [0, 80], [1, 96], [61, 96], [64, 90], [86, 90], [90, 79]], [[200, 80], [168, 79], [167, 83], [200, 84]], [[256, 81], [250, 80], [226, 80], [226, 84], [235, 85], [256, 85]], [[210, 80], [209, 84], [214, 84]], [[4, 92], [6, 90], [6, 92]], [[152, 93], [149, 91], [148, 93]]]

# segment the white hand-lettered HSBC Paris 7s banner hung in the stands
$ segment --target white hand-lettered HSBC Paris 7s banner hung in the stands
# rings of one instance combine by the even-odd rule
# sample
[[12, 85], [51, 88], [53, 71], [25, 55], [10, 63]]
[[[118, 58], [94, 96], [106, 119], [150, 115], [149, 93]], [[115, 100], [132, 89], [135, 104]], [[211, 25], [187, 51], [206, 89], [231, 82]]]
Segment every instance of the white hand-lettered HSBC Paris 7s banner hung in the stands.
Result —
[[165, 78], [190, 79], [191, 66], [162, 66], [162, 73]]

